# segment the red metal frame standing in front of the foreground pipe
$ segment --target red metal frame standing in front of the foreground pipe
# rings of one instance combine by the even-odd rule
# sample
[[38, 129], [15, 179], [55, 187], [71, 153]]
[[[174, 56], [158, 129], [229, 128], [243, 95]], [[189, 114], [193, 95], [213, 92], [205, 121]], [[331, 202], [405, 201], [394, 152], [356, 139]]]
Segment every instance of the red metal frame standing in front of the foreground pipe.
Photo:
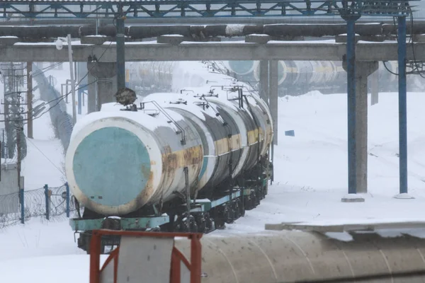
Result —
[[103, 268], [108, 265], [111, 260], [114, 260], [113, 282], [117, 283], [117, 270], [118, 270], [118, 254], [120, 247], [115, 248], [106, 259], [106, 262], [101, 265], [101, 238], [103, 235], [111, 236], [147, 236], [147, 237], [161, 237], [161, 238], [174, 238], [185, 237], [191, 240], [191, 262], [189, 262], [183, 253], [176, 247], [173, 247], [171, 253], [171, 272], [170, 283], [180, 283], [181, 275], [181, 262], [188, 267], [191, 272], [191, 283], [200, 283], [200, 267], [202, 260], [202, 247], [200, 245], [200, 238], [202, 233], [162, 233], [162, 232], [142, 232], [142, 231], [117, 231], [117, 230], [94, 230], [90, 242], [90, 283], [100, 283], [100, 274]]

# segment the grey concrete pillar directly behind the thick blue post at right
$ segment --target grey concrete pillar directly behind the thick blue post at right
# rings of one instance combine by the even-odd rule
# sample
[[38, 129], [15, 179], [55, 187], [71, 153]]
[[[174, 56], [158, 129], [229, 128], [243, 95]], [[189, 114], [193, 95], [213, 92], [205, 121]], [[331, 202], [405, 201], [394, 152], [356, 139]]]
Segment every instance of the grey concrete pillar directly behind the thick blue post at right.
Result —
[[356, 62], [356, 183], [357, 193], [368, 192], [368, 76], [378, 62]]

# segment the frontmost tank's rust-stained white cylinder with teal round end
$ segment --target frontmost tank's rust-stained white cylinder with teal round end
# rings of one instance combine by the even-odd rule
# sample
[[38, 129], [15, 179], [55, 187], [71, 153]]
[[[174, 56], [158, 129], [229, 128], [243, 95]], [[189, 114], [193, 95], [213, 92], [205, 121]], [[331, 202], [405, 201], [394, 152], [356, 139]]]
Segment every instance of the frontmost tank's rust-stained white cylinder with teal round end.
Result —
[[69, 187], [98, 214], [123, 215], [165, 202], [193, 187], [203, 165], [203, 143], [191, 122], [173, 110], [122, 110], [108, 103], [77, 123], [66, 156]]

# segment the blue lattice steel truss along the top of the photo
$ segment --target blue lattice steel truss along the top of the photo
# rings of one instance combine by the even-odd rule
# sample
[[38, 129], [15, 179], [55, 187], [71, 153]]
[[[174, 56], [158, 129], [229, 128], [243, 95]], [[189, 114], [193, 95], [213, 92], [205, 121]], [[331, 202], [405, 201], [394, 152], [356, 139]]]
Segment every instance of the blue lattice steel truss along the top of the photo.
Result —
[[[411, 0], [415, 1], [415, 0]], [[0, 18], [107, 18], [123, 6], [127, 18], [228, 18], [276, 16], [336, 16], [347, 1], [334, 0], [162, 0], [162, 1], [2, 1]], [[408, 1], [350, 2], [361, 16], [401, 16], [410, 13]]]

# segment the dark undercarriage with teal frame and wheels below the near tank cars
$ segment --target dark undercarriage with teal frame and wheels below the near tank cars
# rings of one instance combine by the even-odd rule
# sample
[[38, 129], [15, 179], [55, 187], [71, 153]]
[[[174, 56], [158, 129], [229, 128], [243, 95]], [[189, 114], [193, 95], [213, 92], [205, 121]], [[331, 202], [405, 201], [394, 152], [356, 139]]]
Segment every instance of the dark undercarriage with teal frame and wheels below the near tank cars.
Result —
[[[256, 208], [268, 193], [268, 181], [273, 181], [273, 163], [268, 156], [263, 156], [250, 171], [217, 185], [215, 191], [219, 194], [191, 199], [190, 209], [187, 209], [187, 198], [181, 195], [173, 202], [162, 204], [161, 208], [147, 206], [121, 217], [104, 217], [84, 209], [82, 216], [70, 219], [70, 224], [74, 234], [79, 233], [77, 246], [86, 253], [90, 250], [91, 231], [96, 229], [210, 233], [225, 229], [225, 224], [234, 223], [246, 210]], [[119, 236], [103, 236], [101, 252], [108, 253], [106, 247], [119, 244]]]

